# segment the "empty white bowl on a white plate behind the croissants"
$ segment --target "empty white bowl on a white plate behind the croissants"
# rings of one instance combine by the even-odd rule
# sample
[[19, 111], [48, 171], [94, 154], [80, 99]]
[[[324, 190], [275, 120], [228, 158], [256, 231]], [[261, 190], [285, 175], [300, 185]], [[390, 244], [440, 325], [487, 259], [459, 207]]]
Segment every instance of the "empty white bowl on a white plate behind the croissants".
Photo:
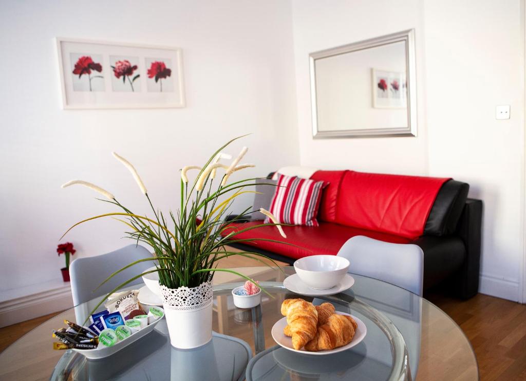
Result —
[[337, 256], [309, 256], [294, 262], [302, 282], [317, 290], [335, 287], [347, 273], [349, 260]]

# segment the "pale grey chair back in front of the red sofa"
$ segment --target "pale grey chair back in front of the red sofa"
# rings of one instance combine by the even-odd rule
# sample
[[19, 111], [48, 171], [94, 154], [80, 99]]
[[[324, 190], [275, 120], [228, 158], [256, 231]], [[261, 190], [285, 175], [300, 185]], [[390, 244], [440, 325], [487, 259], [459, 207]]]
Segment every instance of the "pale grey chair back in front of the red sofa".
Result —
[[391, 244], [356, 236], [343, 244], [338, 256], [351, 262], [349, 272], [382, 280], [422, 296], [424, 253], [417, 245]]

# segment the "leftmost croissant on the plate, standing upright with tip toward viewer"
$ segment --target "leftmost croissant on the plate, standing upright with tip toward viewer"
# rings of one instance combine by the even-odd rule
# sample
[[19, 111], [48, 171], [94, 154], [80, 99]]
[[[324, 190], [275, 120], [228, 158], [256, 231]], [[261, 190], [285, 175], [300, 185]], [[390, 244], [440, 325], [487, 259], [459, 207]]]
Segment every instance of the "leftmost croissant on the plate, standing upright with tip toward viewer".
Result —
[[311, 303], [303, 299], [285, 299], [281, 303], [281, 314], [287, 316], [295, 350], [299, 350], [316, 335], [318, 312]]

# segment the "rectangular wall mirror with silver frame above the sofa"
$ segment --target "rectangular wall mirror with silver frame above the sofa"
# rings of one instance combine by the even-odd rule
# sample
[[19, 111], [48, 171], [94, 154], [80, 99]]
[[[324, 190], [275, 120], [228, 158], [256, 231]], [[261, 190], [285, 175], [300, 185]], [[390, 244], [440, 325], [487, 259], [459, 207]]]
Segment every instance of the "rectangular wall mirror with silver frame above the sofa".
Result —
[[312, 134], [416, 136], [414, 30], [310, 54]]

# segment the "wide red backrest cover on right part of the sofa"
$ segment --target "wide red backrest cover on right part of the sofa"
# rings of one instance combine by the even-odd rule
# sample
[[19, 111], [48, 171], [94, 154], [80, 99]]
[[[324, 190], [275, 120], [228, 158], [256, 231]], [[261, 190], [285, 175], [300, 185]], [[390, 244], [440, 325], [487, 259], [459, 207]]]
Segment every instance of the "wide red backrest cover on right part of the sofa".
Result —
[[346, 171], [336, 223], [414, 239], [423, 234], [434, 199], [449, 178]]

